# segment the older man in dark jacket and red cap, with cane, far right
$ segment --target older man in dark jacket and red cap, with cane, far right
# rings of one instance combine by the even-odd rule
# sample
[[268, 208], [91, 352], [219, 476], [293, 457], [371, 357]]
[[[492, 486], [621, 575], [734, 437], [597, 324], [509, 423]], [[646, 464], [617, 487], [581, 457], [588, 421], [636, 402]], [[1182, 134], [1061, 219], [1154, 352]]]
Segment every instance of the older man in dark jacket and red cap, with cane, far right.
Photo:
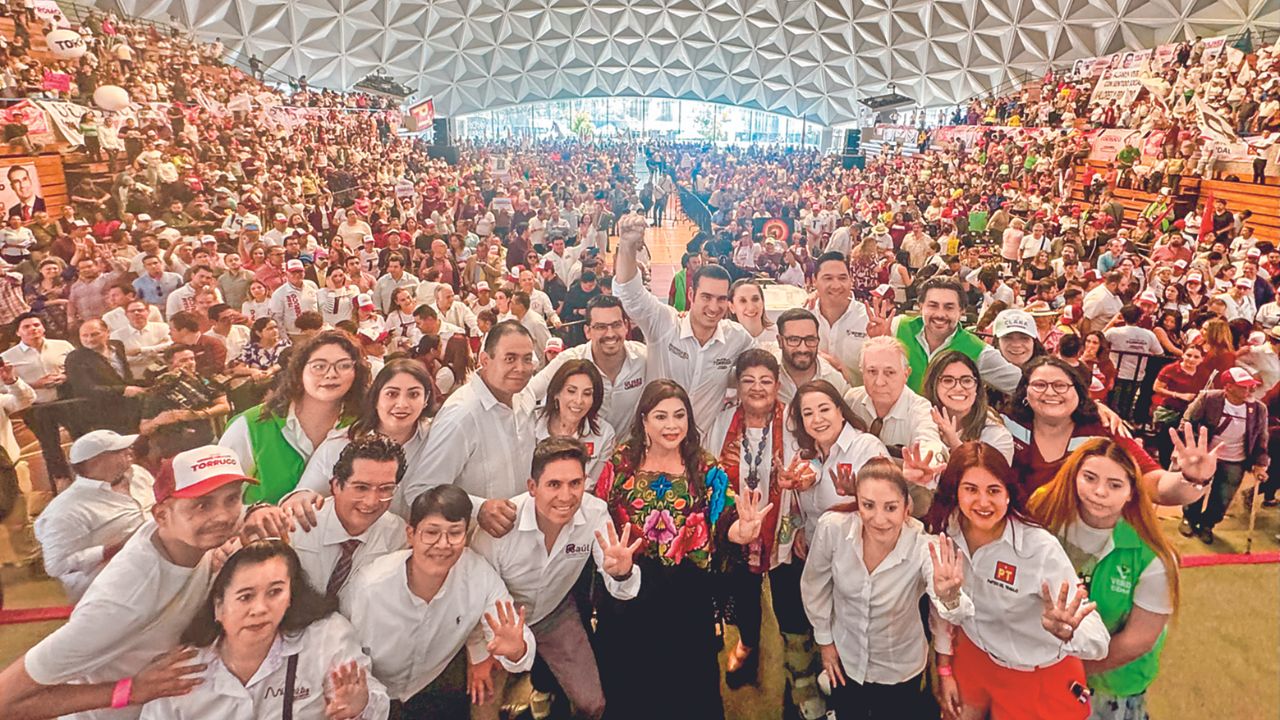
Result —
[[1222, 373], [1222, 389], [1199, 393], [1183, 415], [1193, 428], [1208, 429], [1208, 446], [1217, 448], [1217, 471], [1208, 491], [1208, 502], [1196, 501], [1183, 507], [1183, 524], [1178, 530], [1196, 536], [1204, 544], [1213, 543], [1213, 525], [1222, 521], [1244, 473], [1252, 471], [1260, 482], [1267, 479], [1267, 406], [1251, 400], [1258, 380], [1244, 368]]

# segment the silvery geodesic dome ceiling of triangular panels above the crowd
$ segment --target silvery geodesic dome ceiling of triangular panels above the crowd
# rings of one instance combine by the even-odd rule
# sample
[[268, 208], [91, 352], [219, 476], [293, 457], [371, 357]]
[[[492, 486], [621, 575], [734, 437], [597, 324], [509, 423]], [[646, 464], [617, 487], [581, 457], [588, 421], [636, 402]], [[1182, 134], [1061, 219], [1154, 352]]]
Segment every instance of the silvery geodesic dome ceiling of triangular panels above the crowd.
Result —
[[99, 0], [312, 85], [374, 69], [443, 115], [667, 96], [822, 124], [887, 91], [964, 101], [1011, 74], [1170, 38], [1280, 28], [1280, 0]]

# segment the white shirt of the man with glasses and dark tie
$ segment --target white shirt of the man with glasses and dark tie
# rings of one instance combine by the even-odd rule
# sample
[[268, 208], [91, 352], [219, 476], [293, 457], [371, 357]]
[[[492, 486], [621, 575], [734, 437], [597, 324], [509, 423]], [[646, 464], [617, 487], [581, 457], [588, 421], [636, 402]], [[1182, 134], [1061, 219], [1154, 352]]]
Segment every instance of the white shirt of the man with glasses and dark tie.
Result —
[[351, 556], [351, 575], [348, 580], [365, 565], [379, 557], [404, 550], [408, 538], [404, 534], [404, 520], [392, 512], [383, 512], [381, 518], [374, 520], [360, 536], [347, 532], [334, 511], [333, 502], [325, 502], [324, 507], [316, 510], [316, 525], [310, 530], [301, 527], [289, 536], [289, 544], [298, 553], [302, 570], [307, 574], [307, 580], [320, 594], [329, 587], [329, 577], [334, 565], [342, 557], [342, 543], [349, 539], [358, 539], [360, 547]]

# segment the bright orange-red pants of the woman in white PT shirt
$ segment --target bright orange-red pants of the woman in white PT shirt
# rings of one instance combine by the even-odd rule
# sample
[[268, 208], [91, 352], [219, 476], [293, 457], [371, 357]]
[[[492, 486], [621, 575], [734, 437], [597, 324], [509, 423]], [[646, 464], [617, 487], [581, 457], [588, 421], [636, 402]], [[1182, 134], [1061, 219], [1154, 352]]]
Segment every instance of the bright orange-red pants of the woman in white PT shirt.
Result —
[[1084, 664], [1065, 657], [1038, 670], [1010, 670], [957, 629], [955, 633], [956, 685], [965, 705], [989, 708], [992, 720], [1085, 720], [1089, 705], [1076, 700], [1071, 683], [1084, 685]]

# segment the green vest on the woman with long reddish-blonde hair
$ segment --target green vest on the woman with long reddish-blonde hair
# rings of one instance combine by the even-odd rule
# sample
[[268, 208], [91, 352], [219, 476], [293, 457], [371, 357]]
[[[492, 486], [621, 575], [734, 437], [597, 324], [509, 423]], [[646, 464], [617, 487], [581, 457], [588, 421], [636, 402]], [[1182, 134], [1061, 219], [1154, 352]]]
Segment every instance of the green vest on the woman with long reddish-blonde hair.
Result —
[[[1089, 600], [1098, 603], [1098, 615], [1115, 635], [1133, 611], [1133, 593], [1138, 589], [1138, 577], [1151, 562], [1160, 562], [1156, 551], [1133, 529], [1120, 520], [1111, 533], [1115, 547], [1093, 569]], [[1142, 657], [1089, 678], [1089, 687], [1111, 697], [1132, 697], [1147, 691], [1160, 671], [1160, 651], [1165, 647], [1165, 632], [1156, 644]]]

